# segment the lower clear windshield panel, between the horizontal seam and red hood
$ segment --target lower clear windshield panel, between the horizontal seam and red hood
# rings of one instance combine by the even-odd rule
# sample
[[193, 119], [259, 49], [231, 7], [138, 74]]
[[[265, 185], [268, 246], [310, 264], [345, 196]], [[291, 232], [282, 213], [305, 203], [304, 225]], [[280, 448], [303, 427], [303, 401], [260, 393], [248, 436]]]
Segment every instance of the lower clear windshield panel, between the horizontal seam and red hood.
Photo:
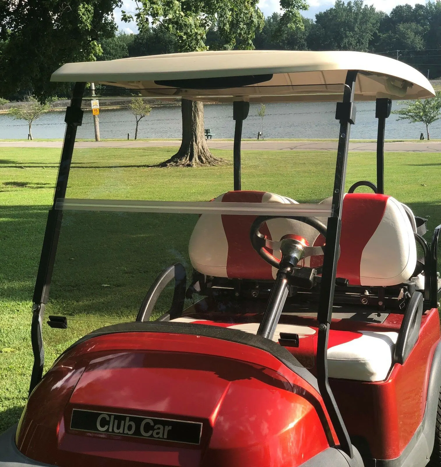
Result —
[[[305, 211], [308, 205], [274, 202], [237, 203], [240, 212], [217, 209], [234, 202], [182, 203], [182, 211], [194, 211], [187, 213], [173, 211], [178, 203], [162, 203], [163, 211], [173, 212], [120, 211], [112, 203], [107, 209], [84, 204], [58, 205], [63, 209], [62, 229], [45, 316], [66, 317], [68, 328], [44, 325], [48, 355], [54, 357], [86, 333], [137, 317], [256, 333], [277, 273], [250, 241], [257, 215], [269, 213], [258, 208], [284, 205], [284, 216], [302, 214], [302, 218], [324, 214], [325, 209], [325, 215], [330, 212], [330, 206], [309, 205]], [[197, 213], [207, 205], [214, 207]], [[260, 231], [277, 242], [285, 235], [312, 233], [309, 227], [299, 220], [270, 219]], [[276, 245], [270, 246], [269, 251], [280, 258]], [[160, 289], [158, 296], [149, 295], [154, 286]], [[290, 293], [287, 299], [274, 340], [299, 336], [296, 347], [303, 349], [303, 363], [312, 366], [315, 330], [311, 323], [315, 323], [317, 304], [294, 295]]]

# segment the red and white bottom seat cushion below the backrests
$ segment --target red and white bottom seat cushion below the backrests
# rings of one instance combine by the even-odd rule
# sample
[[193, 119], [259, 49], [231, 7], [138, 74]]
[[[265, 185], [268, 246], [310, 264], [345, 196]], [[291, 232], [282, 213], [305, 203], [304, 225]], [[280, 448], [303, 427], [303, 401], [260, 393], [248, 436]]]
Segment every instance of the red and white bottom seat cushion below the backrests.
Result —
[[[259, 323], [217, 323], [194, 318], [177, 318], [195, 324], [220, 325], [255, 334]], [[278, 342], [280, 333], [296, 333], [300, 338], [314, 339], [310, 353], [317, 351], [317, 329], [308, 326], [278, 324], [273, 340]], [[396, 332], [336, 331], [331, 329], [328, 343], [328, 372], [330, 378], [357, 381], [384, 381], [392, 367], [393, 353], [398, 339]], [[295, 348], [290, 351], [296, 356]], [[313, 355], [311, 355], [313, 357]]]

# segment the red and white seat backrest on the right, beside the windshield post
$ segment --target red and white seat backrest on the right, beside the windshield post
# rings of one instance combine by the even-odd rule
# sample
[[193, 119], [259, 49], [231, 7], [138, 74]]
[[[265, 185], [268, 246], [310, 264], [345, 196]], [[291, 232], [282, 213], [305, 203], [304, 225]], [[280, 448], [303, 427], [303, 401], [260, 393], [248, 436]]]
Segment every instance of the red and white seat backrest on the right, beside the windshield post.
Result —
[[[331, 202], [331, 198], [322, 201]], [[413, 230], [407, 210], [392, 196], [345, 194], [337, 276], [348, 279], [351, 285], [372, 287], [406, 282], [417, 259]], [[317, 234], [307, 240], [314, 246], [324, 243]], [[307, 262], [315, 268], [322, 264], [323, 256]]]

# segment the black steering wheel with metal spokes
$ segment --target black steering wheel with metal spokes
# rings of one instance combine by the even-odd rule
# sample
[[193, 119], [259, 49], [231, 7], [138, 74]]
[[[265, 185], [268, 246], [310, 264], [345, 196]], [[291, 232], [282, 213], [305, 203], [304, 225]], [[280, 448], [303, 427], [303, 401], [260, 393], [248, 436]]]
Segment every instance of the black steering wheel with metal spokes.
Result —
[[304, 245], [302, 242], [293, 239], [283, 239], [281, 241], [272, 241], [268, 240], [262, 233], [259, 232], [259, 229], [262, 225], [270, 219], [294, 219], [302, 222], [303, 224], [307, 224], [315, 228], [319, 233], [321, 233], [324, 238], [326, 239], [326, 226], [320, 222], [315, 217], [297, 217], [297, 216], [259, 216], [255, 219], [255, 221], [251, 224], [249, 238], [251, 240], [251, 244], [253, 248], [257, 251], [257, 253], [271, 266], [279, 269], [280, 260], [278, 260], [275, 256], [271, 255], [267, 248], [275, 250], [280, 250], [283, 243], [293, 243], [298, 245], [303, 250], [303, 258], [307, 256], [315, 256], [315, 255], [323, 255], [323, 247], [309, 247]]

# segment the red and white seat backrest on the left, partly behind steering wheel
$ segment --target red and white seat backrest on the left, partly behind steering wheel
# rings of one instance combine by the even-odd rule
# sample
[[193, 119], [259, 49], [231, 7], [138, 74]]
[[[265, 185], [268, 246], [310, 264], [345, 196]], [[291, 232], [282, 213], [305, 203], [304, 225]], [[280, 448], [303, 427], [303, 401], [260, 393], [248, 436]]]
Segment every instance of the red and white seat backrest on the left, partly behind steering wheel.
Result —
[[[265, 191], [228, 191], [214, 203], [283, 203], [298, 204], [291, 198]], [[194, 227], [188, 246], [193, 268], [207, 276], [242, 279], [275, 279], [277, 269], [271, 267], [254, 250], [249, 240], [251, 224], [256, 216], [202, 214]], [[279, 241], [291, 233], [306, 235], [304, 224], [293, 219], [271, 219], [260, 229], [270, 240]], [[311, 228], [309, 226], [305, 226]], [[308, 230], [308, 234], [312, 232]], [[273, 252], [280, 258], [280, 252]]]

